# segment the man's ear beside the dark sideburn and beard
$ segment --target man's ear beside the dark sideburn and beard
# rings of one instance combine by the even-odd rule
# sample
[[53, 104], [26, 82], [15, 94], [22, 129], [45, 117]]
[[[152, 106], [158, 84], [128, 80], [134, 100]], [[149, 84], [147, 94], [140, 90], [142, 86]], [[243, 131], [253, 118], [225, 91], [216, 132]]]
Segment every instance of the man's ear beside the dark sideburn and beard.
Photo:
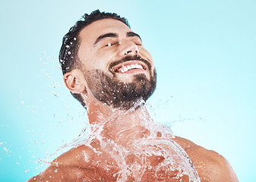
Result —
[[64, 83], [72, 93], [86, 93], [84, 74], [75, 69], [63, 76]]

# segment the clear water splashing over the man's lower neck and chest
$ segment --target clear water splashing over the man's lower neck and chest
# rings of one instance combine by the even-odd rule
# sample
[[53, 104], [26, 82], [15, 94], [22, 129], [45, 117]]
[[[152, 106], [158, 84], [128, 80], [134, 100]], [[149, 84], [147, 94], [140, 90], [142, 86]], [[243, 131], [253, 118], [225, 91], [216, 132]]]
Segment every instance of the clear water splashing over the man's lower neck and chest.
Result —
[[[144, 108], [141, 105], [144, 103], [139, 103], [138, 107]], [[133, 109], [126, 111], [125, 115], [130, 115], [134, 111]], [[115, 115], [115, 117], [112, 116], [104, 121], [103, 124], [91, 124], [90, 134], [88, 128], [85, 128], [77, 139], [62, 146], [62, 149], [67, 146], [85, 145], [97, 155], [106, 153], [112, 156], [112, 164], [115, 164], [115, 168], [118, 170], [113, 173], [109, 172], [109, 174], [112, 175], [112, 179], [120, 182], [148, 181], [148, 177], [152, 181], [200, 181], [198, 173], [184, 149], [172, 140], [174, 137], [172, 131], [168, 127], [154, 123], [146, 111], [137, 117], [140, 118], [141, 123], [136, 127], [144, 128], [146, 134], [141, 134], [141, 130], [140, 133], [135, 131], [133, 136], [142, 137], [133, 137], [127, 146], [122, 146], [111, 138], [103, 137], [104, 127], [118, 120], [119, 116]], [[132, 130], [132, 128], [127, 127], [120, 130], [119, 136], [128, 130]], [[92, 145], [94, 141], [99, 143], [100, 150]], [[103, 166], [105, 171], [112, 170], [112, 166]]]

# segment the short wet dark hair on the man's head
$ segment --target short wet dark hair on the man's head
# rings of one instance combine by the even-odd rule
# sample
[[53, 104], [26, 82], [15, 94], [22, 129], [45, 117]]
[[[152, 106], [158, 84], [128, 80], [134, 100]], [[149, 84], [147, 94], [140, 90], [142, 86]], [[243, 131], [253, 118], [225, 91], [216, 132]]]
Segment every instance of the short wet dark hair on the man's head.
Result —
[[[120, 20], [122, 23], [126, 24], [128, 27], [128, 20], [125, 17], [120, 17], [115, 13], [108, 12], [100, 12], [99, 10], [93, 11], [90, 14], [84, 14], [80, 20], [77, 20], [76, 24], [70, 28], [67, 34], [62, 39], [62, 48], [59, 52], [58, 59], [60, 64], [62, 65], [62, 74], [66, 74], [69, 71], [74, 69], [81, 69], [81, 62], [77, 58], [77, 52], [79, 49], [79, 33], [84, 27], [92, 24], [96, 20], [103, 20], [107, 18], [112, 18], [115, 20]], [[86, 108], [84, 103], [84, 99], [82, 98], [80, 93], [71, 93], [75, 99], [77, 99], [81, 105]]]

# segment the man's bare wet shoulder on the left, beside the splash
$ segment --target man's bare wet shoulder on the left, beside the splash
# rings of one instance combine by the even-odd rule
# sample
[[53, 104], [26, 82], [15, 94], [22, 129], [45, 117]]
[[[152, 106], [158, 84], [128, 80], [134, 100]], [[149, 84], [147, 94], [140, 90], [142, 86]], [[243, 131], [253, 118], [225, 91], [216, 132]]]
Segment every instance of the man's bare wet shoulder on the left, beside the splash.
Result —
[[[97, 150], [96, 143], [93, 149]], [[55, 158], [45, 171], [35, 177], [32, 181], [114, 181], [112, 174], [118, 169], [109, 155], [95, 152], [88, 146], [77, 146], [68, 152]], [[108, 166], [108, 168], [106, 168]], [[112, 167], [113, 166], [113, 167]], [[109, 171], [106, 171], [108, 169]]]

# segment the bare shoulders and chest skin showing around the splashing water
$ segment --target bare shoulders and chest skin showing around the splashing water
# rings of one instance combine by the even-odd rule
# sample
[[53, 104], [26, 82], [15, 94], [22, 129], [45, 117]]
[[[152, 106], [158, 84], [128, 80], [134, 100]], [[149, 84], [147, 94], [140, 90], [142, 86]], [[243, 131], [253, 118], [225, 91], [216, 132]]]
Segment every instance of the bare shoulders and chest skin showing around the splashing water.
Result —
[[[229, 165], [229, 162], [216, 152], [204, 149], [181, 137], [172, 138], [179, 143], [185, 152], [191, 158], [194, 167], [198, 171], [202, 182], [227, 182], [238, 181], [235, 172]], [[97, 144], [95, 143], [95, 148]], [[126, 163], [134, 163], [138, 160], [135, 155], [125, 158]], [[163, 162], [164, 158], [160, 156], [151, 156], [147, 158], [151, 166]], [[108, 170], [106, 170], [106, 168]], [[88, 146], [78, 146], [65, 154], [56, 158], [43, 173], [32, 177], [31, 181], [116, 181], [119, 168], [112, 156], [106, 153], [97, 155], [93, 149]], [[172, 174], [158, 174], [147, 168], [141, 181], [189, 181], [188, 176], [177, 179], [175, 171]], [[127, 177], [125, 181], [134, 181], [133, 177]]]

